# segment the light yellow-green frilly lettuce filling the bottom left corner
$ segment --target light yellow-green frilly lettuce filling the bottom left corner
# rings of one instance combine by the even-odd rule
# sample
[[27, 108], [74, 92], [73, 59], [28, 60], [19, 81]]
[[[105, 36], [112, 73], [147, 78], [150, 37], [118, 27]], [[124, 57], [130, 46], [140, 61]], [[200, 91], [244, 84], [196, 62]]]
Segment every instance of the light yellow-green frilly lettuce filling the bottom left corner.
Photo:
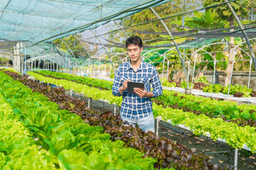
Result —
[[14, 115], [11, 106], [0, 94], [0, 167], [1, 169], [55, 169], [39, 149], [31, 132]]

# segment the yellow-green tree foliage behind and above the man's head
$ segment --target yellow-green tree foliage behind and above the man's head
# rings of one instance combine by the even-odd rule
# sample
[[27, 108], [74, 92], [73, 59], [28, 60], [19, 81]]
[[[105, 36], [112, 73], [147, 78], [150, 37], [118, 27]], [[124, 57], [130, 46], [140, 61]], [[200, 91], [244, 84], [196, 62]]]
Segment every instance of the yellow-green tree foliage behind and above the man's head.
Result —
[[[186, 6], [185, 9], [184, 3]], [[169, 1], [166, 4], [161, 4], [160, 6], [154, 7], [154, 10], [156, 11], [156, 13], [159, 14], [160, 17], [166, 17], [176, 15], [178, 13], [183, 13], [183, 11], [192, 10], [197, 6], [197, 4], [200, 3], [201, 1], [196, 0]], [[171, 28], [172, 31], [181, 30], [180, 28], [176, 27], [175, 23], [177, 20], [181, 21], [181, 18], [182, 16], [166, 18], [164, 22], [169, 28]], [[148, 45], [150, 45], [151, 43], [156, 42], [154, 39], [163, 38], [163, 36], [161, 35], [162, 31], [166, 32], [164, 26], [161, 24], [160, 21], [149, 22], [155, 19], [157, 18], [154, 13], [149, 8], [147, 8], [144, 11], [123, 18], [120, 25], [122, 26], [122, 28], [125, 28], [127, 26], [134, 26], [132, 28], [125, 29], [127, 34], [129, 36], [139, 35], [142, 40], [150, 39], [151, 41], [146, 42]], [[122, 33], [122, 31], [119, 31], [118, 34], [112, 33], [112, 35], [110, 35], [110, 40], [119, 42], [120, 37], [125, 38], [125, 35], [124, 33]]]

